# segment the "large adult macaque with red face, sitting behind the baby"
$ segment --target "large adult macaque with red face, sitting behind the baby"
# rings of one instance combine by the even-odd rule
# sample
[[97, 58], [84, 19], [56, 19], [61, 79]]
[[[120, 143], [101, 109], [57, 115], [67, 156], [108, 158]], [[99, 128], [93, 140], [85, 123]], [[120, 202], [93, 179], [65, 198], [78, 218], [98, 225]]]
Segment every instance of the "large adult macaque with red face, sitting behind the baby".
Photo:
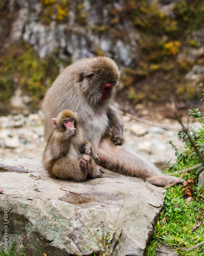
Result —
[[143, 180], [160, 175], [150, 181], [156, 186], [177, 181], [176, 177], [161, 175], [154, 164], [131, 148], [121, 146], [123, 123], [112, 106], [119, 78], [116, 63], [108, 57], [80, 59], [66, 67], [48, 89], [42, 104], [45, 140], [53, 131], [50, 119], [63, 109], [71, 109], [78, 113], [86, 139], [97, 151], [103, 167]]

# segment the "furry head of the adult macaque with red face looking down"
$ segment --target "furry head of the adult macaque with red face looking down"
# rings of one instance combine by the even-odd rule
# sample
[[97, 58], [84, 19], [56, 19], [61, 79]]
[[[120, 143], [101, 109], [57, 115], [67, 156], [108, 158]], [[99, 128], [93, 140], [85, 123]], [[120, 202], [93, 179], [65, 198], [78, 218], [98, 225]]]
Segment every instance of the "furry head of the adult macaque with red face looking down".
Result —
[[[119, 83], [120, 71], [116, 63], [108, 57], [87, 58], [87, 65], [78, 66], [73, 71], [77, 89], [89, 105], [100, 106], [113, 100]], [[80, 62], [80, 61], [79, 61]], [[77, 63], [77, 62], [76, 62]]]

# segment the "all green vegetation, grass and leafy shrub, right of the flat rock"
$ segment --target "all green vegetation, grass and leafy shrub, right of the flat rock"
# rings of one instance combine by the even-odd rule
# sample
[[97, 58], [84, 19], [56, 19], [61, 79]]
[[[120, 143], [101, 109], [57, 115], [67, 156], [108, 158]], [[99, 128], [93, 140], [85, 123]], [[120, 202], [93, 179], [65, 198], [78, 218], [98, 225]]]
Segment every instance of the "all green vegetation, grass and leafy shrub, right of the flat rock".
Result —
[[[200, 117], [198, 109], [190, 111], [190, 114], [195, 119], [199, 120], [203, 124], [203, 119]], [[204, 127], [203, 125], [199, 129], [191, 127], [190, 135], [196, 143], [199, 151], [204, 152]], [[178, 132], [178, 136], [183, 138], [184, 148], [180, 152], [170, 141], [169, 143], [175, 149], [175, 155], [177, 156], [177, 162], [171, 164], [166, 170], [166, 173], [177, 172], [183, 168], [188, 168], [196, 164], [200, 164], [195, 149], [189, 142], [187, 135], [181, 131]], [[197, 168], [198, 169], [198, 168]], [[196, 170], [192, 169], [186, 172], [183, 176], [184, 180], [193, 179], [194, 185], [192, 186], [193, 201], [188, 204], [187, 199], [183, 195], [185, 188], [181, 185], [167, 189], [166, 197], [164, 200], [164, 207], [157, 220], [156, 229], [146, 250], [146, 256], [154, 256], [156, 250], [161, 250], [160, 246], [174, 246], [179, 255], [196, 255], [203, 256], [204, 244], [196, 249], [185, 252], [196, 244], [204, 240], [203, 224], [195, 231], [191, 232], [191, 229], [197, 225], [197, 219], [203, 221], [204, 215], [204, 187], [197, 185]], [[175, 205], [179, 205], [179, 208]], [[163, 218], [166, 221], [161, 223]]]

